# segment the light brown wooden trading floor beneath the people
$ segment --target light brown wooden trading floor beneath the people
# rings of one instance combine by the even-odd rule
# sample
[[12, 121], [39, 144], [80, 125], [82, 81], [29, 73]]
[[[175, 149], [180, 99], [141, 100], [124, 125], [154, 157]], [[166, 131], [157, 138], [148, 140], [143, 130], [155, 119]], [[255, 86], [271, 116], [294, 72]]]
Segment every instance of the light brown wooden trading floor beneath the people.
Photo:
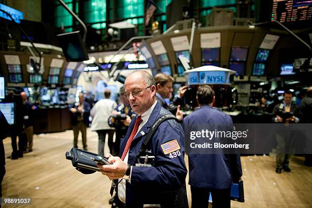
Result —
[[[89, 151], [97, 152], [97, 134], [88, 129], [87, 137]], [[65, 159], [72, 138], [72, 131], [34, 135], [33, 152], [18, 160], [6, 159], [3, 197], [32, 197], [32, 206], [25, 207], [111, 207], [110, 180], [100, 173], [84, 175]], [[4, 144], [8, 157], [10, 138]], [[276, 174], [274, 158], [242, 157], [245, 203], [232, 201], [231, 207], [312, 207], [312, 168], [303, 162], [295, 157], [292, 172]], [[189, 203], [190, 196], [188, 186]]]

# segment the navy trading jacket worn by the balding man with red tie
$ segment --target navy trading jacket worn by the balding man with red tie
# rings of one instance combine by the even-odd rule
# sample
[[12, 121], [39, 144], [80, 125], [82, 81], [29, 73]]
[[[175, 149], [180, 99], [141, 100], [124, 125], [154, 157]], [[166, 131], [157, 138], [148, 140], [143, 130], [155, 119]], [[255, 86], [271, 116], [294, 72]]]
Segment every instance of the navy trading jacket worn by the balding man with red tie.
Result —
[[[159, 103], [155, 105], [147, 123], [138, 130], [138, 134], [132, 141], [128, 163], [131, 163], [139, 152], [141, 144], [155, 120], [168, 113]], [[121, 157], [132, 132], [135, 120], [136, 117], [132, 119], [125, 139], [121, 140], [119, 157]], [[164, 154], [161, 145], [172, 140], [177, 140], [181, 149], [178, 157], [170, 158], [169, 154]], [[135, 164], [139, 163], [139, 159], [131, 164], [133, 166], [131, 184], [126, 183], [126, 206], [143, 207], [143, 204], [161, 204], [161, 207], [177, 207], [173, 205], [176, 200], [176, 192], [184, 186], [187, 175], [184, 151], [184, 132], [181, 125], [175, 120], [161, 123], [151, 138], [146, 152], [143, 153], [143, 155], [154, 155], [153, 167], [136, 167]], [[187, 199], [186, 194], [184, 197]]]

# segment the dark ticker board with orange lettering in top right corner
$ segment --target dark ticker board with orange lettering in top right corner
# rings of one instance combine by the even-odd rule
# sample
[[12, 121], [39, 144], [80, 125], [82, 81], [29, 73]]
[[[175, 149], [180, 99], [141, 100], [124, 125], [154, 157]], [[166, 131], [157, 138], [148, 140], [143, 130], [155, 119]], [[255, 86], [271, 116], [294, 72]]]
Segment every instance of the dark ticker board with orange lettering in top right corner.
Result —
[[271, 0], [271, 21], [295, 22], [312, 20], [312, 1], [309, 0]]

